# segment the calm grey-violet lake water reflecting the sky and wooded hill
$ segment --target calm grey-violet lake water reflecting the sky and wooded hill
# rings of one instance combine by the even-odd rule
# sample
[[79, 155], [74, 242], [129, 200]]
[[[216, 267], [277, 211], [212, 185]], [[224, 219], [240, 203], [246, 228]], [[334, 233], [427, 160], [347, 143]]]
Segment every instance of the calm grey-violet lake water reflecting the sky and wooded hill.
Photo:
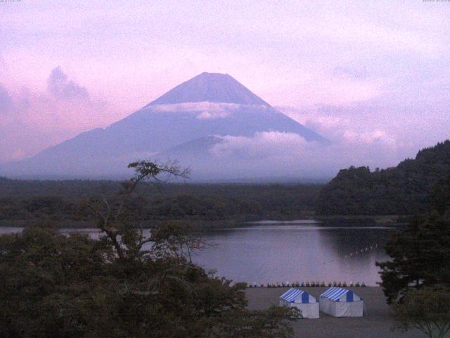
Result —
[[[392, 229], [367, 223], [350, 225], [345, 220], [333, 224], [310, 220], [253, 223], [207, 232], [204, 239], [211, 246], [197, 251], [193, 260], [237, 282], [335, 281], [375, 286], [380, 281], [375, 262], [387, 259], [383, 244]], [[0, 234], [17, 231], [20, 228], [0, 227]], [[95, 229], [62, 231], [98, 237]]]

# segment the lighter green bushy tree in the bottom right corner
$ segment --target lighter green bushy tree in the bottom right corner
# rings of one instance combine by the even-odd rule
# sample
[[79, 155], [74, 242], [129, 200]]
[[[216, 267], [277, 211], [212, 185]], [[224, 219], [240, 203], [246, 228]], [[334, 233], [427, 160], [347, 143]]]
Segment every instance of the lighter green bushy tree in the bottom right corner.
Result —
[[401, 330], [416, 327], [430, 338], [444, 338], [450, 332], [450, 289], [411, 289], [401, 303], [393, 306], [393, 312]]

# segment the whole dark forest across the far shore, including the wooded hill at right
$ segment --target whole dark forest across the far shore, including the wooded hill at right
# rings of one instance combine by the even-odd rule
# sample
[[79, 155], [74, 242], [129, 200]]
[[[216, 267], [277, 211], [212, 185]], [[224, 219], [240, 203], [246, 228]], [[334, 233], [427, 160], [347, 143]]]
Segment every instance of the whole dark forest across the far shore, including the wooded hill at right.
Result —
[[[450, 173], [450, 141], [418, 152], [394, 168], [350, 167], [328, 184], [146, 184], [127, 203], [143, 226], [179, 220], [226, 227], [252, 220], [328, 215], [413, 215], [426, 211], [430, 192]], [[58, 227], [91, 227], [86, 204], [122, 189], [110, 180], [10, 180], [0, 177], [0, 226], [51, 220]]]

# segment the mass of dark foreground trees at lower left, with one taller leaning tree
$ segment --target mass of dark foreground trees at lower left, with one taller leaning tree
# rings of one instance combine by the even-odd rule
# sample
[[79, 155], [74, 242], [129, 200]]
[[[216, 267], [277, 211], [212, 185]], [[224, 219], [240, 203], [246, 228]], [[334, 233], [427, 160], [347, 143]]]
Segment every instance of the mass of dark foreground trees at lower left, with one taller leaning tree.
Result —
[[290, 337], [292, 311], [248, 311], [244, 284], [191, 261], [200, 236], [172, 223], [144, 235], [129, 209], [136, 187], [187, 173], [173, 163], [130, 168], [115, 199], [89, 204], [98, 241], [46, 224], [0, 237], [1, 337]]

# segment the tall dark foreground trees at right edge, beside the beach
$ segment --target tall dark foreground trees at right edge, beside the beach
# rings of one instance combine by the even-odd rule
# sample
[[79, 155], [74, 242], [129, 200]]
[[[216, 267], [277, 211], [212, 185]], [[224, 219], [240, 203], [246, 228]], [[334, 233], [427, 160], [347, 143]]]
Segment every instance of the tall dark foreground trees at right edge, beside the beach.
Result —
[[381, 286], [401, 329], [428, 337], [450, 332], [450, 175], [437, 181], [426, 213], [394, 232], [378, 263]]

